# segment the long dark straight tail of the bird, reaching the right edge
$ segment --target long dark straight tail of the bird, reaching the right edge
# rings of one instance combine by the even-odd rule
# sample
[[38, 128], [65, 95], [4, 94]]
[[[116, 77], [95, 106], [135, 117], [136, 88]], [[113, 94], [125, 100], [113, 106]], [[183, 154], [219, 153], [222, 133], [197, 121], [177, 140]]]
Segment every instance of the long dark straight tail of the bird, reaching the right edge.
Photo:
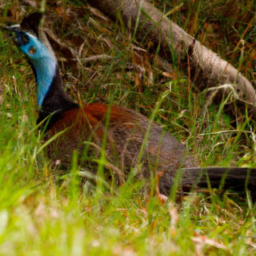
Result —
[[256, 201], [256, 169], [240, 167], [205, 167], [184, 168], [181, 186], [183, 191], [190, 191], [195, 187], [230, 189], [246, 196], [246, 190]]

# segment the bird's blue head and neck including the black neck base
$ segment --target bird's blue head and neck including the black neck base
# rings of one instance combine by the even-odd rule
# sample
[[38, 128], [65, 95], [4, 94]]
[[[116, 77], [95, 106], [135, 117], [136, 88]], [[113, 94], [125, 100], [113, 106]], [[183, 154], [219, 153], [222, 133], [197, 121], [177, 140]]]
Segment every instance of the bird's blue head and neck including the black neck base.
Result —
[[64, 91], [57, 62], [46, 46], [34, 35], [16, 31], [15, 42], [27, 56], [37, 82], [37, 104], [40, 107], [37, 123], [45, 121], [49, 130], [62, 116], [73, 108], [79, 108]]

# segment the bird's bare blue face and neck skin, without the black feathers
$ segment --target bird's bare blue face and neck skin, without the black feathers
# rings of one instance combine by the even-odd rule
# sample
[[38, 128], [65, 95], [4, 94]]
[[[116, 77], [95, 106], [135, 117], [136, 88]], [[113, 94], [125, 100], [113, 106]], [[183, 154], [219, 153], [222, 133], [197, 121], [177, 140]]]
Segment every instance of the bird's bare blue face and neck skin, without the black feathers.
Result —
[[27, 56], [37, 81], [37, 104], [41, 107], [56, 72], [56, 62], [46, 46], [29, 32], [15, 30], [15, 44]]

